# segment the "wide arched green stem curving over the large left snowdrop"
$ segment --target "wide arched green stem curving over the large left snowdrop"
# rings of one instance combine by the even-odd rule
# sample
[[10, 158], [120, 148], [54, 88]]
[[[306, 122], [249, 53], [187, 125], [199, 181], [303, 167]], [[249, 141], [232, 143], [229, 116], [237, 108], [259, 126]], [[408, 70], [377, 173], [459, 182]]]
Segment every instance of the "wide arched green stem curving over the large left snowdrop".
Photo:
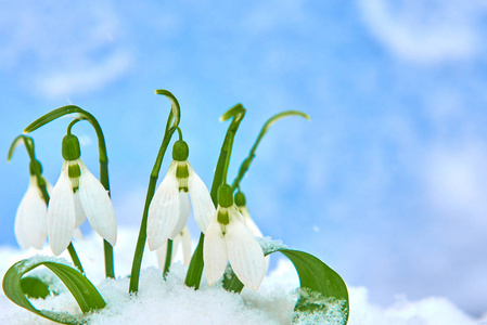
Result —
[[[81, 119], [86, 119], [90, 122], [90, 125], [93, 127], [97, 138], [98, 138], [98, 147], [99, 147], [99, 161], [100, 161], [100, 183], [105, 187], [105, 190], [108, 193], [110, 196], [110, 179], [108, 179], [108, 157], [106, 154], [106, 145], [105, 145], [105, 138], [103, 136], [103, 131], [98, 122], [98, 120], [94, 118], [93, 115], [86, 112], [85, 109], [75, 106], [75, 105], [67, 105], [60, 107], [57, 109], [54, 109], [40, 118], [36, 119], [34, 122], [31, 122], [27, 128], [25, 128], [24, 132], [29, 133], [34, 130], [37, 130], [38, 128], [49, 123], [50, 121], [53, 121], [54, 119], [57, 119], [64, 115], [67, 114], [78, 114], [79, 116], [75, 121], [69, 123], [68, 130], [78, 121]], [[110, 243], [104, 240], [103, 243], [103, 250], [104, 250], [104, 257], [105, 257], [105, 276], [115, 278], [115, 270], [114, 270], [114, 262], [113, 262], [113, 247]]]

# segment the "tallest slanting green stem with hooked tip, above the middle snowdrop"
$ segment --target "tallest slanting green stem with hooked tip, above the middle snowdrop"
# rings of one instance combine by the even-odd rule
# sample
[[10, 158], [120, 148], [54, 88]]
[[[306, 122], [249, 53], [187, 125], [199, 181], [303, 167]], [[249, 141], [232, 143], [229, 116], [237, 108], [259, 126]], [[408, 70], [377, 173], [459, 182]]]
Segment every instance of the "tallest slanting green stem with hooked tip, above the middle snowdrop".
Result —
[[[157, 178], [159, 176], [161, 165], [163, 164], [164, 155], [166, 153], [167, 146], [169, 145], [170, 139], [178, 127], [180, 118], [180, 108], [176, 98], [166, 90], [156, 90], [155, 92], [157, 94], [164, 94], [171, 101], [171, 110], [169, 113], [169, 117], [167, 118], [163, 143], [161, 144], [159, 152], [157, 154], [157, 158], [155, 159], [154, 167], [152, 168], [151, 172], [151, 178], [149, 180], [148, 194], [145, 196], [145, 206], [142, 214], [142, 221], [140, 223], [139, 237], [137, 239], [136, 251], [133, 253], [132, 270], [130, 273], [130, 284], [129, 284], [130, 294], [137, 294], [137, 291], [139, 290], [140, 268], [142, 265], [142, 257], [144, 252], [145, 240], [148, 238], [149, 206], [151, 205], [151, 200], [154, 197], [155, 186], [157, 184]], [[170, 127], [171, 121], [172, 127]]]

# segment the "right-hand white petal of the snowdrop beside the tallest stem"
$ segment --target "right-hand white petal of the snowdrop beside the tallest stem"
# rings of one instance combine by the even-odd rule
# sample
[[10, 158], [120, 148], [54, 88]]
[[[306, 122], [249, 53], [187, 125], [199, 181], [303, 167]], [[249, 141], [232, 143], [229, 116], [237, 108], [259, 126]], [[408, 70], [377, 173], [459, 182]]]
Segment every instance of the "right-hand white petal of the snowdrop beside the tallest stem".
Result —
[[191, 196], [191, 204], [193, 205], [194, 220], [196, 220], [200, 230], [205, 233], [212, 218], [215, 216], [215, 205], [208, 188], [197, 173], [194, 172], [190, 162], [188, 162], [188, 171], [190, 172], [188, 190]]

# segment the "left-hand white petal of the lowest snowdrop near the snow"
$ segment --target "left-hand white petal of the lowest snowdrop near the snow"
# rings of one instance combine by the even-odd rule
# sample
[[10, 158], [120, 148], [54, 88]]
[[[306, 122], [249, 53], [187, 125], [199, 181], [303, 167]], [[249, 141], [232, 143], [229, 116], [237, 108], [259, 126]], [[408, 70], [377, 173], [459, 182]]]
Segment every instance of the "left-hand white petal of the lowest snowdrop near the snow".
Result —
[[206, 281], [209, 286], [213, 286], [223, 275], [228, 262], [227, 245], [216, 214], [206, 229], [203, 243], [203, 261]]

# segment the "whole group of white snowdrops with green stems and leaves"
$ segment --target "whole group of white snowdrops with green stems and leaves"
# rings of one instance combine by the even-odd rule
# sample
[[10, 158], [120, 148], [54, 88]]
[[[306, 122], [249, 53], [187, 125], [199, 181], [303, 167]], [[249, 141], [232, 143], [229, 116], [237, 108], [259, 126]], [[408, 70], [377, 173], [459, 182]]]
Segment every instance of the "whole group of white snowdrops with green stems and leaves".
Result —
[[[166, 90], [157, 90], [171, 101], [171, 112], [166, 123], [164, 140], [159, 154], [151, 173], [148, 196], [142, 214], [141, 229], [133, 255], [132, 270], [129, 276], [129, 294], [137, 294], [142, 256], [145, 244], [150, 250], [156, 250], [157, 262], [163, 270], [163, 277], [170, 271], [172, 255], [178, 246], [182, 246], [183, 262], [188, 265], [184, 284], [197, 289], [205, 271], [205, 277], [212, 287], [222, 281], [222, 287], [229, 291], [240, 292], [245, 286], [258, 290], [268, 268], [268, 257], [265, 257], [261, 245], [257, 240], [262, 233], [252, 220], [246, 207], [245, 196], [240, 191], [240, 181], [248, 169], [255, 150], [269, 127], [278, 119], [298, 115], [309, 118], [297, 110], [282, 112], [271, 117], [264, 125], [247, 158], [242, 162], [235, 180], [230, 186], [227, 183], [233, 139], [240, 122], [245, 116], [245, 108], [236, 104], [227, 110], [221, 120], [232, 118], [225, 138], [221, 154], [215, 169], [212, 194], [202, 179], [188, 161], [189, 147], [182, 140], [179, 128], [180, 112], [176, 98]], [[3, 290], [13, 302], [35, 312], [46, 318], [64, 324], [89, 323], [85, 315], [71, 315], [47, 310], [37, 310], [29, 297], [39, 297], [39, 287], [49, 295], [49, 286], [41, 280], [23, 277], [33, 269], [43, 265], [50, 269], [68, 288], [78, 302], [82, 313], [101, 310], [106, 306], [103, 297], [84, 274], [84, 269], [72, 243], [73, 237], [80, 236], [79, 227], [88, 219], [91, 227], [104, 238], [104, 261], [106, 277], [115, 278], [113, 246], [117, 240], [115, 212], [110, 198], [110, 181], [107, 155], [103, 132], [95, 118], [88, 112], [68, 105], [48, 113], [29, 125], [25, 132], [34, 131], [43, 125], [67, 114], [76, 113], [77, 117], [67, 128], [67, 134], [62, 142], [64, 164], [61, 176], [52, 187], [42, 177], [42, 168], [34, 153], [34, 141], [25, 134], [18, 135], [9, 152], [12, 156], [16, 144], [24, 141], [30, 157], [30, 179], [27, 193], [23, 197], [15, 218], [15, 235], [18, 245], [26, 249], [42, 248], [46, 238], [55, 256], [68, 250], [76, 268], [52, 257], [35, 257], [18, 261], [12, 265], [3, 277]], [[88, 120], [97, 132], [99, 141], [100, 181], [80, 159], [81, 151], [78, 139], [72, 134], [73, 126], [81, 120]], [[158, 188], [157, 178], [167, 146], [174, 133], [178, 131], [179, 140], [172, 147], [172, 161]], [[238, 188], [235, 196], [234, 190]], [[194, 220], [202, 234], [196, 249], [191, 253], [191, 237], [187, 225], [190, 214], [190, 203]], [[319, 259], [303, 251], [278, 247], [296, 266], [303, 288], [317, 292], [320, 299], [336, 299], [343, 301], [343, 320], [348, 315], [348, 294], [343, 280]], [[269, 251], [266, 249], [266, 253]], [[28, 284], [34, 281], [34, 285]], [[34, 288], [37, 287], [37, 288]], [[47, 291], [47, 294], [46, 294]], [[42, 297], [41, 297], [42, 298]], [[323, 312], [322, 306], [308, 303], [309, 299], [300, 296], [295, 307], [296, 311], [305, 308], [312, 312]]]

